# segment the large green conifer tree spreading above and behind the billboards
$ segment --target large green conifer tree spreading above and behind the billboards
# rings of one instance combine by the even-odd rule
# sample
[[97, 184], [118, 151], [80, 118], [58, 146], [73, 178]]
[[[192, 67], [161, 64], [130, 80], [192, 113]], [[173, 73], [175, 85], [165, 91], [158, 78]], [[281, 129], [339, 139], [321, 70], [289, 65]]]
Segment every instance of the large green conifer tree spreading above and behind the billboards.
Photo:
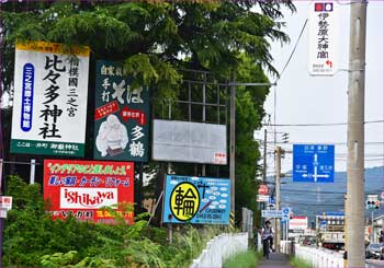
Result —
[[[90, 46], [91, 70], [97, 59], [123, 60], [134, 83], [150, 86], [154, 100], [160, 103], [184, 94], [180, 90], [185, 75], [181, 68], [211, 71], [218, 80], [236, 72], [238, 82], [268, 82], [266, 72], [278, 75], [270, 43], [289, 40], [281, 31], [282, 23], [276, 22], [282, 18], [282, 8], [294, 11], [290, 0], [8, 1], [1, 3], [2, 86], [12, 91], [14, 44], [25, 40]], [[94, 77], [90, 73], [92, 89]], [[88, 103], [93, 103], [92, 92]], [[241, 206], [256, 207], [253, 179], [259, 153], [252, 133], [260, 127], [267, 94], [267, 88], [238, 89], [237, 211]], [[155, 105], [154, 109], [159, 116], [161, 106]], [[182, 110], [178, 113], [182, 115]], [[87, 129], [92, 137], [91, 116]], [[89, 149], [91, 142], [92, 139], [88, 141]], [[147, 168], [160, 170], [158, 163]]]

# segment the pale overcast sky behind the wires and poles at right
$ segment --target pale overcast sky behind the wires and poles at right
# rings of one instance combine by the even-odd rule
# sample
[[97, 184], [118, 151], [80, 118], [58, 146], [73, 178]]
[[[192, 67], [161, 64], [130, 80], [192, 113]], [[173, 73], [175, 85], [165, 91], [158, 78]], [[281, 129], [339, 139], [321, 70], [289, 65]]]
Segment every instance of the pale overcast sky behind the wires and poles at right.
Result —
[[[283, 21], [286, 22], [285, 33], [291, 43], [281, 47], [279, 43], [272, 45], [272, 55], [275, 68], [281, 71], [298, 38], [300, 32], [308, 18], [309, 2], [294, 1], [297, 12], [291, 15], [285, 12]], [[347, 3], [347, 2], [343, 2]], [[383, 1], [370, 1], [366, 15], [366, 72], [365, 72], [365, 121], [383, 120]], [[340, 4], [340, 34], [339, 57], [340, 69], [348, 69], [349, 54], [349, 19], [350, 4]], [[310, 77], [308, 74], [308, 25], [291, 62], [278, 81], [271, 88], [264, 104], [266, 112], [271, 115], [273, 124], [274, 113], [276, 124], [330, 124], [347, 123], [347, 86], [348, 72], [338, 71], [334, 77]], [[274, 81], [275, 78], [271, 78]], [[274, 105], [274, 92], [276, 102]], [[275, 109], [274, 109], [275, 107]], [[365, 145], [365, 167], [380, 166], [384, 163], [384, 125], [366, 124], [365, 142], [381, 142]], [[273, 128], [269, 127], [268, 131]], [[336, 171], [347, 170], [347, 126], [326, 127], [276, 127], [279, 132], [290, 135], [289, 144], [283, 148], [292, 150], [292, 143], [336, 143]], [[257, 138], [263, 137], [263, 130], [257, 131]], [[273, 133], [269, 133], [273, 141]], [[281, 133], [278, 133], [278, 141]], [[268, 147], [272, 152], [273, 144]], [[268, 173], [273, 173], [273, 154], [268, 158]], [[282, 172], [292, 170], [292, 154], [286, 154], [282, 162]]]

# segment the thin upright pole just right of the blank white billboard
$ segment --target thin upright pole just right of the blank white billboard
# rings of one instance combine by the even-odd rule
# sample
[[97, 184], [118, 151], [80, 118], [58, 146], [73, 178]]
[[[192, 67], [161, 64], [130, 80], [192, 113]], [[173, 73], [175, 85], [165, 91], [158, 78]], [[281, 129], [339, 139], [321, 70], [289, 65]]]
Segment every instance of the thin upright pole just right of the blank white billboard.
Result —
[[230, 85], [230, 104], [229, 104], [229, 179], [230, 179], [230, 218], [235, 228], [235, 116], [236, 116], [236, 74], [233, 74]]

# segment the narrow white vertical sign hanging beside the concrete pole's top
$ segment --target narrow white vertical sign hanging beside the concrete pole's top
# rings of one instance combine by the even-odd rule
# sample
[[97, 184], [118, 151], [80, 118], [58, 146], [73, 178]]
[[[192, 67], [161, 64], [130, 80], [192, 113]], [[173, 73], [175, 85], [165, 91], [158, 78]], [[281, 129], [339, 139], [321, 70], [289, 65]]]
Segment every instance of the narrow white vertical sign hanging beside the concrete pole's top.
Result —
[[317, 0], [309, 7], [309, 74], [334, 75], [338, 63], [338, 3]]

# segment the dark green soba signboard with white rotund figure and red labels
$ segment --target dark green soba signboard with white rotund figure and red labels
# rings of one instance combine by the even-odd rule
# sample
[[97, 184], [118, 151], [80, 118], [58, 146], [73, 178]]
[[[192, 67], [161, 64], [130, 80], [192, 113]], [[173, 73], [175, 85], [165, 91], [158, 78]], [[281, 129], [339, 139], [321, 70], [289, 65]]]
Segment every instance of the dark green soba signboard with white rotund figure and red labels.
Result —
[[98, 60], [94, 159], [147, 162], [148, 135], [149, 89], [132, 88], [123, 65]]

